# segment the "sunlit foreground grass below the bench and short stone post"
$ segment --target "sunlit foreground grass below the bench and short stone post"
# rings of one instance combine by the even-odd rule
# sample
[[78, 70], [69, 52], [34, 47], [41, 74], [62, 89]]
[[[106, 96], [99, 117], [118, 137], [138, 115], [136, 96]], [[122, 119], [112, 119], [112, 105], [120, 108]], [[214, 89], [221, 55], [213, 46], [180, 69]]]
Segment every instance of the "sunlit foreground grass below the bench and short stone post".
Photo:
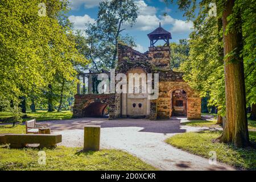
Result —
[[38, 163], [38, 149], [0, 147], [0, 171], [3, 170], [156, 170], [137, 157], [119, 150], [80, 152], [81, 148], [46, 149], [46, 165]]

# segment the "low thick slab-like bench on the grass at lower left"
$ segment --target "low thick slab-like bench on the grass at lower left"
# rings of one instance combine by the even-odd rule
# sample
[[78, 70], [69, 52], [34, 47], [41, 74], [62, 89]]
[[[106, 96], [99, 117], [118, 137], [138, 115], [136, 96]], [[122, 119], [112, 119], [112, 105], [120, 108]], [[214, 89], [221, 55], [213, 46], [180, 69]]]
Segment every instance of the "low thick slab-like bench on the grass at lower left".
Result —
[[0, 144], [10, 143], [11, 148], [23, 148], [27, 144], [39, 144], [39, 148], [55, 147], [62, 141], [57, 134], [1, 134]]

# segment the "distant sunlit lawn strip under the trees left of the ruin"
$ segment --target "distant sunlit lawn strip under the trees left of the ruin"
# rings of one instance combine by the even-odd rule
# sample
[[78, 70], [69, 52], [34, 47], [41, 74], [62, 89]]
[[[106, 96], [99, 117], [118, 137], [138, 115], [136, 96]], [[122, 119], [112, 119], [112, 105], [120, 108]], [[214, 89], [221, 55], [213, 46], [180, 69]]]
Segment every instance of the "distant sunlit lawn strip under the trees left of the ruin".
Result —
[[[36, 118], [37, 121], [71, 119], [73, 113], [71, 111], [47, 112], [46, 110], [38, 110], [35, 113], [32, 113], [31, 111], [27, 111], [26, 114], [28, 118], [23, 119], [23, 121], [29, 120], [30, 118]], [[0, 112], [0, 119], [2, 120], [6, 119], [5, 122], [13, 122], [10, 120], [11, 117], [13, 117], [13, 115], [10, 112]]]

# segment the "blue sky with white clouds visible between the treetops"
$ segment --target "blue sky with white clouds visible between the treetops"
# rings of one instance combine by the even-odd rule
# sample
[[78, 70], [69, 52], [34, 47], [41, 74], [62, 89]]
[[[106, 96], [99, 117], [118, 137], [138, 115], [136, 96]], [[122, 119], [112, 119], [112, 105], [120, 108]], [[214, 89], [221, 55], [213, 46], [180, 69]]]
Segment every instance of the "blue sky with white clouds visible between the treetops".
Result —
[[[97, 19], [98, 4], [102, 0], [69, 0], [71, 11], [68, 16], [76, 29], [84, 29], [85, 23], [93, 23]], [[177, 9], [177, 5], [166, 5], [163, 0], [134, 0], [139, 6], [137, 22], [133, 27], [127, 28], [123, 34], [133, 36], [137, 49], [145, 52], [150, 46], [147, 34], [161, 26], [172, 34], [171, 42], [179, 42], [179, 39], [188, 39], [192, 22], [186, 22], [183, 13]], [[166, 12], [167, 16], [163, 16]]]

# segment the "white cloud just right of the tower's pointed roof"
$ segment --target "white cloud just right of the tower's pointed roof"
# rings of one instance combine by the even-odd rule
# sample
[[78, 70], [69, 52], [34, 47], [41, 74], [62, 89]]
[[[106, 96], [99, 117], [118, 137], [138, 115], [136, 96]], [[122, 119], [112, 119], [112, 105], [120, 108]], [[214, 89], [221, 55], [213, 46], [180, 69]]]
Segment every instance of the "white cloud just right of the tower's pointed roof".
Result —
[[185, 33], [185, 32], [191, 32], [191, 29], [193, 28], [192, 22], [185, 22], [180, 19], [176, 19], [173, 23], [173, 27], [171, 28], [172, 33]]

